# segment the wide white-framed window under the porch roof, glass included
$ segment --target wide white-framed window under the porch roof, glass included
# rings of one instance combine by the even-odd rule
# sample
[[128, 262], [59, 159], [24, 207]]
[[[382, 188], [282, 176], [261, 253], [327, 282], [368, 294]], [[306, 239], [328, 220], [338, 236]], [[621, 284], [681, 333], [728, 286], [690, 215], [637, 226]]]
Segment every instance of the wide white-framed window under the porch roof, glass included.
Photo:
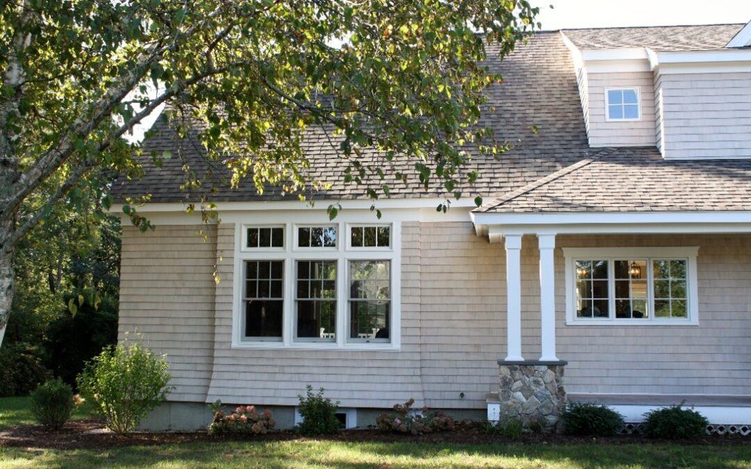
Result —
[[698, 248], [564, 248], [569, 324], [698, 323]]

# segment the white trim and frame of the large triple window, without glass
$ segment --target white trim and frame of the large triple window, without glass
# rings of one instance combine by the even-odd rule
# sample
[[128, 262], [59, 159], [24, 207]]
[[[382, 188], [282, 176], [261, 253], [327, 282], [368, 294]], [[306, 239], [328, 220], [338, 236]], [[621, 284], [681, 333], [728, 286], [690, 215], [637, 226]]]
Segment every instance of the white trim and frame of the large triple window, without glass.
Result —
[[[340, 215], [341, 217], [342, 215]], [[401, 224], [397, 221], [368, 223], [372, 215], [352, 214], [342, 221], [331, 223], [326, 212], [320, 214], [305, 214], [298, 217], [294, 223], [279, 224], [278, 221], [259, 223], [258, 216], [254, 216], [252, 223], [235, 224], [234, 247], [234, 279], [233, 279], [233, 313], [232, 313], [232, 347], [256, 349], [289, 349], [289, 350], [400, 350], [401, 348]], [[343, 218], [343, 217], [342, 217]], [[342, 233], [348, 238], [347, 225], [391, 225], [391, 248], [388, 250], [366, 250], [364, 248], [347, 249], [348, 242], [342, 242]], [[284, 251], [268, 251], [261, 249], [243, 250], [246, 244], [247, 227], [285, 227]], [[335, 226], [338, 230], [336, 248], [299, 248], [297, 246], [298, 226]], [[261, 341], [245, 338], [243, 335], [243, 263], [245, 260], [284, 260], [284, 308], [282, 317], [282, 341]], [[296, 260], [336, 260], [336, 341], [295, 341], [294, 332], [294, 284]], [[389, 335], [391, 342], [348, 341], [348, 261], [349, 260], [390, 260], [391, 261], [391, 323]]]

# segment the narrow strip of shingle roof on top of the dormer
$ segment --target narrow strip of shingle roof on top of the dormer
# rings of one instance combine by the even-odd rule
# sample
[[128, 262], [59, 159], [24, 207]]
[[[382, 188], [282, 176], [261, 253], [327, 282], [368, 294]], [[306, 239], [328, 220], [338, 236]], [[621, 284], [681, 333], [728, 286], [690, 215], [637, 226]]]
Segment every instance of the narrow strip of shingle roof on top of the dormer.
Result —
[[580, 49], [648, 47], [652, 50], [725, 49], [743, 24], [703, 26], [648, 26], [644, 28], [563, 29]]

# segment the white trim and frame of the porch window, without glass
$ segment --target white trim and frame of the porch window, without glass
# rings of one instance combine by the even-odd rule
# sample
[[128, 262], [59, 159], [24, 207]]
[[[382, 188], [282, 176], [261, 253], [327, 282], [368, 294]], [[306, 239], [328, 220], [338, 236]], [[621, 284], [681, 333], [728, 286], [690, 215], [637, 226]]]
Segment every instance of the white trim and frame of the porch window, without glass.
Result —
[[[696, 269], [696, 257], [698, 246], [666, 247], [666, 248], [562, 248], [563, 257], [566, 261], [566, 326], [698, 326], [698, 280]], [[616, 318], [587, 319], [576, 317], [575, 295], [575, 261], [581, 259], [622, 257], [624, 259], [638, 259], [645, 257], [657, 257], [660, 259], [688, 259], [686, 269], [686, 289], [688, 289], [686, 319], [658, 318], [651, 312], [650, 317], [644, 319]], [[612, 264], [612, 263], [611, 263]], [[613, 269], [613, 266], [608, 266]], [[608, 276], [610, 279], [610, 275]], [[650, 279], [647, 278], [647, 281]], [[612, 283], [612, 282], [611, 282]], [[647, 286], [650, 291], [647, 300], [650, 304], [654, 301], [652, 296], [652, 282]], [[613, 311], [615, 302], [613, 295], [614, 286], [608, 293], [608, 301], [611, 303], [610, 311]], [[650, 308], [653, 311], [653, 308]]]

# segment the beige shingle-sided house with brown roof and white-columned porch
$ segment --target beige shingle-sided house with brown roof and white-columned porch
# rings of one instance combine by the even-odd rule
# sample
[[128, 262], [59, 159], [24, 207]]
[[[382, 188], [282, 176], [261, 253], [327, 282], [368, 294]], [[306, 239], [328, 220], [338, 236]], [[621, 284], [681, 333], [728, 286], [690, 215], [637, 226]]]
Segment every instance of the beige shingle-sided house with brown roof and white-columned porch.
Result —
[[[158, 129], [147, 149], [178, 157], [115, 188], [150, 193], [157, 226], [122, 233], [121, 337], [166, 353], [175, 386], [146, 426], [200, 427], [216, 399], [293, 425], [311, 384], [348, 426], [409, 398], [553, 425], [568, 398], [629, 428], [686, 401], [749, 433], [751, 25], [539, 32], [488, 62], [488, 119], [517, 144], [473, 161], [480, 208], [396, 184], [377, 219], [320, 129], [315, 206], [186, 193], [201, 148]], [[213, 183], [206, 226], [185, 204]]]

